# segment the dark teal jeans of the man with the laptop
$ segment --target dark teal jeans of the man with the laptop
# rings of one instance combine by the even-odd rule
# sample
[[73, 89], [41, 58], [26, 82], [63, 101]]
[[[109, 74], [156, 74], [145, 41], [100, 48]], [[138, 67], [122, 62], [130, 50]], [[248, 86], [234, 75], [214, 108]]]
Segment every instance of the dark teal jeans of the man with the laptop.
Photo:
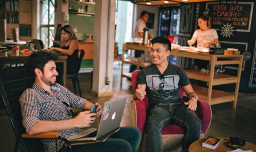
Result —
[[[139, 147], [142, 135], [135, 127], [121, 127], [105, 142], [72, 146], [73, 152], [96, 152], [96, 151], [113, 151], [113, 152], [136, 152]], [[60, 151], [64, 151], [62, 148]], [[66, 150], [68, 151], [68, 149]]]

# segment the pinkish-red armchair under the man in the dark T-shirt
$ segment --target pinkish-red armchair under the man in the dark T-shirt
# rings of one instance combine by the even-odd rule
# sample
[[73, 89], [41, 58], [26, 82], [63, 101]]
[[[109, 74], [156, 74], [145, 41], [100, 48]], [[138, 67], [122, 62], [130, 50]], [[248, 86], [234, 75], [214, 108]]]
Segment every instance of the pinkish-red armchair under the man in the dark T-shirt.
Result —
[[[137, 76], [139, 75], [140, 71], [135, 71], [132, 73], [132, 89], [133, 92], [135, 92], [135, 89], [137, 87]], [[183, 89], [181, 88], [179, 90], [179, 95], [181, 95], [181, 98], [183, 98]], [[143, 100], [135, 100], [135, 106], [136, 106], [136, 127], [139, 128], [139, 130], [143, 134], [143, 139], [141, 143], [140, 149], [142, 151], [146, 151], [146, 133], [145, 127], [146, 127], [146, 119], [147, 119], [147, 110], [148, 110], [148, 97], [146, 97]], [[209, 106], [208, 102], [199, 100], [197, 103], [197, 110], [195, 111], [197, 116], [202, 121], [201, 126], [201, 135], [200, 137], [203, 138], [206, 134], [209, 125], [211, 123], [212, 118], [212, 111], [211, 107]], [[170, 124], [162, 129], [162, 141], [163, 141], [163, 148], [164, 150], [181, 150], [182, 145], [182, 138], [184, 136], [184, 131], [181, 127]]]

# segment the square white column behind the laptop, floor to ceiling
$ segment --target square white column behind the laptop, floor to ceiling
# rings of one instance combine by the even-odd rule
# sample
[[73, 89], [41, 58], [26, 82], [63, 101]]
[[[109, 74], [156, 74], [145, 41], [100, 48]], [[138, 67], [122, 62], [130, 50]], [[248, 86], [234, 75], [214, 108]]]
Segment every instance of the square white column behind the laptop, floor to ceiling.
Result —
[[[114, 0], [95, 0], [93, 87], [97, 96], [113, 95]], [[105, 77], [109, 77], [106, 84]]]

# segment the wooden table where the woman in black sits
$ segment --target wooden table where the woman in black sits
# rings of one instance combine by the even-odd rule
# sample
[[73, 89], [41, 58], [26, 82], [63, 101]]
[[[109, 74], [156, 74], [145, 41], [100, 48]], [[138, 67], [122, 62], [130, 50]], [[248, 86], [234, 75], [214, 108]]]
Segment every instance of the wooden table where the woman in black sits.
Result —
[[[21, 54], [18, 50], [9, 50], [0, 53], [0, 65], [5, 64], [25, 64], [28, 60], [29, 54]], [[63, 86], [66, 87], [67, 79], [67, 56], [60, 55], [55, 61], [56, 63], [63, 63]]]

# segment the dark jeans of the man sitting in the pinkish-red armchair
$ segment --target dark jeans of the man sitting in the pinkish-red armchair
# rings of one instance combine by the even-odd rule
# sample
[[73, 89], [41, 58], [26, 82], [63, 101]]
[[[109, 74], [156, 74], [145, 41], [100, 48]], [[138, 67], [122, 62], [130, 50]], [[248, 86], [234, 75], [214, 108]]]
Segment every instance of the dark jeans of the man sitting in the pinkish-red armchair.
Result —
[[192, 110], [187, 110], [183, 103], [159, 103], [151, 108], [147, 122], [147, 145], [151, 152], [163, 151], [161, 131], [171, 123], [184, 128], [182, 150], [188, 150], [200, 138], [201, 120]]

